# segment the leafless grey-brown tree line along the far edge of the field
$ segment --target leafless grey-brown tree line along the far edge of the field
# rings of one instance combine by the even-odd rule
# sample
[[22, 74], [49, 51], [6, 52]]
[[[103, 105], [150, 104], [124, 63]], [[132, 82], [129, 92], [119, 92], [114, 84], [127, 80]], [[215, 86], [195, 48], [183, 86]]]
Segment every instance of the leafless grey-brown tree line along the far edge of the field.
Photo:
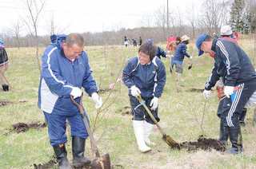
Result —
[[[65, 33], [65, 28], [60, 29], [55, 24], [53, 14], [50, 24], [47, 26], [49, 35], [38, 36], [38, 22], [40, 14], [43, 14], [46, 0], [23, 1], [27, 9], [26, 18], [22, 18], [22, 22], [14, 24], [9, 32], [0, 34], [0, 37], [6, 41], [6, 46], [36, 46], [36, 56], [38, 58], [38, 46], [46, 46], [50, 43], [50, 34]], [[255, 0], [246, 0], [248, 10], [256, 11], [254, 2]], [[186, 14], [177, 7], [170, 6], [168, 17], [166, 6], [160, 6], [152, 14], [142, 16], [143, 27], [135, 29], [123, 28], [118, 31], [105, 31], [102, 33], [87, 32], [82, 33], [82, 35], [86, 38], [86, 45], [120, 45], [124, 36], [130, 39], [142, 37], [144, 40], [153, 38], [155, 42], [159, 42], [166, 41], [166, 37], [170, 35], [182, 36], [182, 34], [186, 33], [190, 37], [196, 37], [198, 33], [202, 32], [218, 33], [220, 27], [229, 22], [231, 3], [228, 0], [204, 0], [202, 1], [202, 10], [198, 11], [198, 6], [195, 6], [192, 2], [187, 6]], [[25, 37], [20, 36], [21, 29], [27, 30], [28, 34]]]

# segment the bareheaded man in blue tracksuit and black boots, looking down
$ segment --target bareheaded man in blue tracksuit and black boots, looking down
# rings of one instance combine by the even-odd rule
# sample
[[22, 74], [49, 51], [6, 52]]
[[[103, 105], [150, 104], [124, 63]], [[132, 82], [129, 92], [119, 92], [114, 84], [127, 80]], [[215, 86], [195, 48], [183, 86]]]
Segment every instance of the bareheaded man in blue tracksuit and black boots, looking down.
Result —
[[84, 156], [88, 136], [78, 108], [70, 96], [79, 102], [81, 88], [91, 96], [95, 107], [102, 106], [98, 87], [92, 77], [84, 39], [78, 33], [52, 36], [42, 56], [42, 72], [38, 89], [38, 107], [42, 109], [48, 124], [50, 144], [58, 159], [60, 168], [71, 168], [66, 157], [66, 120], [70, 123], [72, 136], [73, 165], [79, 167], [89, 164]]

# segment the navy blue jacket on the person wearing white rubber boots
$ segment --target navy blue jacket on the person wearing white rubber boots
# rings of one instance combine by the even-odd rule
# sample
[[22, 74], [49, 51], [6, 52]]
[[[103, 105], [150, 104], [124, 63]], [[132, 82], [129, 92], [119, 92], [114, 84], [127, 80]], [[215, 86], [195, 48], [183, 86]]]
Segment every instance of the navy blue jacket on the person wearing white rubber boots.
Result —
[[135, 85], [143, 97], [160, 97], [166, 85], [166, 69], [158, 57], [147, 65], [141, 65], [138, 57], [132, 57], [122, 72], [122, 81], [129, 88]]

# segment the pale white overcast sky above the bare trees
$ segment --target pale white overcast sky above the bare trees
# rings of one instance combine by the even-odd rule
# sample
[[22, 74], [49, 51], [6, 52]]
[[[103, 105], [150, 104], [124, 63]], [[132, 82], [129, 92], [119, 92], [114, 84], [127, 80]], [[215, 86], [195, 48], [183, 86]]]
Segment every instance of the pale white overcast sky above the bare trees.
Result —
[[[22, 18], [27, 10], [26, 0], [0, 0], [0, 33]], [[188, 6], [194, 3], [197, 10], [200, 0], [169, 0], [170, 10], [179, 10], [183, 16], [189, 14]], [[50, 33], [50, 19], [54, 18], [58, 31], [102, 32], [120, 28], [142, 26], [143, 18], [154, 20], [155, 11], [166, 6], [166, 0], [46, 0], [46, 6], [39, 20], [39, 34]], [[171, 13], [171, 11], [170, 11]], [[23, 33], [26, 27], [23, 28]]]

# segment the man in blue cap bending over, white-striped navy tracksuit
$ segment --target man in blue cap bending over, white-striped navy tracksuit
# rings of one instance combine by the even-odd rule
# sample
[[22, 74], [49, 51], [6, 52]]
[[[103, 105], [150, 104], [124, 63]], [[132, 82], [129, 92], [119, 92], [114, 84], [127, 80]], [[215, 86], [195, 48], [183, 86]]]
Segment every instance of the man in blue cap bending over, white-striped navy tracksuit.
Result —
[[226, 143], [230, 137], [232, 147], [228, 152], [237, 154], [242, 151], [242, 143], [238, 143], [238, 135], [241, 135], [239, 116], [256, 90], [254, 66], [246, 53], [232, 41], [212, 39], [203, 33], [198, 37], [196, 45], [199, 56], [205, 52], [214, 57], [214, 68], [203, 92], [206, 99], [210, 97], [211, 88], [222, 77], [226, 96], [220, 106], [220, 141]]

